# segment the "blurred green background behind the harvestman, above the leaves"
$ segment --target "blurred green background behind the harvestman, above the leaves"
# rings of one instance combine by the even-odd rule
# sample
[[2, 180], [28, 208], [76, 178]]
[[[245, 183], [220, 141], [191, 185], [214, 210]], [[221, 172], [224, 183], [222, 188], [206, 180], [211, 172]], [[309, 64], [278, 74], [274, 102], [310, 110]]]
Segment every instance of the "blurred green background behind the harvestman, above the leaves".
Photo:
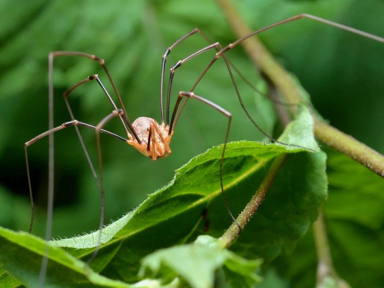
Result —
[[[235, 2], [246, 22], [261, 28], [278, 20], [310, 13], [383, 36], [384, 2], [365, 0], [246, 0]], [[161, 56], [166, 48], [195, 27], [222, 45], [236, 38], [215, 1], [2, 1], [0, 8], [0, 225], [29, 227], [24, 142], [48, 128], [48, 53], [75, 50], [104, 58], [130, 119], [148, 116], [160, 121]], [[260, 35], [276, 58], [298, 76], [314, 106], [331, 124], [384, 152], [384, 46], [324, 24], [299, 20]], [[171, 65], [206, 46], [194, 35], [172, 50]], [[174, 77], [177, 92], [189, 90], [214, 55], [194, 58]], [[258, 73], [242, 48], [228, 58], [252, 83], [263, 89]], [[90, 74], [99, 73], [113, 94], [98, 63], [79, 57], [55, 60], [55, 126], [69, 121], [62, 93]], [[236, 76], [236, 75], [235, 75]], [[243, 101], [266, 132], [275, 126], [273, 113], [258, 109], [264, 101], [238, 76]], [[230, 140], [263, 140], [243, 113], [223, 61], [217, 61], [195, 90], [233, 114]], [[97, 124], [112, 108], [96, 82], [69, 96], [76, 119]], [[265, 105], [262, 105], [263, 107]], [[272, 106], [270, 110], [273, 111]], [[134, 209], [193, 156], [223, 142], [225, 118], [196, 101], [189, 101], [172, 138], [172, 155], [152, 162], [124, 142], [102, 136], [106, 218]], [[106, 129], [124, 136], [118, 121]], [[81, 129], [94, 163], [94, 132]], [[53, 237], [70, 237], [98, 227], [99, 197], [73, 128], [55, 134], [55, 210]], [[44, 235], [48, 139], [29, 150], [36, 221], [33, 233]], [[257, 187], [254, 187], [255, 189]]]

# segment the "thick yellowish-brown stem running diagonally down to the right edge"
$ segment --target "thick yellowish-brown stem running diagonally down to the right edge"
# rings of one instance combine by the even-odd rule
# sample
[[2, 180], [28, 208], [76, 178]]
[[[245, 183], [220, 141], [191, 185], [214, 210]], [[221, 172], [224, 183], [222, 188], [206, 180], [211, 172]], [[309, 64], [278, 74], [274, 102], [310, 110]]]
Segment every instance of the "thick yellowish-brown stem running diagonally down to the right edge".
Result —
[[[252, 32], [227, 0], [217, 1], [227, 16], [235, 35], [241, 37]], [[272, 54], [255, 36], [243, 41], [242, 45], [248, 56], [268, 76], [287, 102], [298, 103], [302, 101], [300, 91], [303, 88], [293, 81], [290, 74], [273, 58]], [[291, 106], [291, 112], [295, 114], [296, 106]], [[346, 154], [384, 177], [384, 156], [379, 152], [329, 124], [321, 122], [316, 117], [314, 117], [314, 134], [319, 141]]]

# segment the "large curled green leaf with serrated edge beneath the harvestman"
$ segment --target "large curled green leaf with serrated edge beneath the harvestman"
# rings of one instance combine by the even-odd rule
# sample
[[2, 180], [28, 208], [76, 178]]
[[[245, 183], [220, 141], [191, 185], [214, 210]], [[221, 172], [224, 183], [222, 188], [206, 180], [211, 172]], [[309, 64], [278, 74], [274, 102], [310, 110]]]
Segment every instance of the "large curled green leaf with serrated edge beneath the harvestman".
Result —
[[[313, 122], [305, 106], [286, 128], [281, 140], [318, 150]], [[286, 140], [285, 140], [286, 139]], [[223, 165], [223, 184], [233, 212], [240, 213], [255, 193], [271, 160], [289, 153], [263, 205], [231, 248], [248, 257], [276, 257], [283, 247], [292, 249], [317, 218], [326, 197], [325, 154], [307, 149], [260, 142], [231, 142]], [[300, 153], [301, 152], [301, 153]], [[225, 210], [218, 177], [222, 146], [194, 157], [177, 170], [164, 188], [149, 195], [136, 210], [103, 230], [95, 271], [127, 282], [137, 280], [141, 259], [157, 249], [182, 244], [204, 233], [207, 209], [210, 235], [219, 237], [231, 219]], [[119, 230], [119, 232], [117, 232]], [[117, 232], [117, 233], [116, 233]], [[75, 257], [88, 258], [98, 231], [51, 242], [68, 247]]]

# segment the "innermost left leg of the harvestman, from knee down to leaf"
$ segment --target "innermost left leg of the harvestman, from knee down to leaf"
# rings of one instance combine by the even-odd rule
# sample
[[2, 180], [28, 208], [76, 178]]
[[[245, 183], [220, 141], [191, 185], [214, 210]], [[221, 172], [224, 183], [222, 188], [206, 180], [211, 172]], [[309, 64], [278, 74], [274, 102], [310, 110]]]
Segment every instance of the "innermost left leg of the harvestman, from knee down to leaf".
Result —
[[120, 116], [122, 114], [122, 110], [114, 110], [112, 113], [105, 116], [99, 124], [95, 127], [95, 136], [96, 136], [96, 147], [97, 147], [97, 156], [98, 156], [98, 164], [99, 164], [99, 177], [100, 177], [100, 185], [99, 185], [99, 194], [100, 194], [100, 202], [101, 202], [101, 212], [100, 212], [100, 225], [99, 225], [99, 236], [98, 241], [95, 247], [95, 250], [92, 254], [92, 257], [88, 259], [87, 264], [91, 263], [93, 259], [96, 257], [100, 243], [101, 243], [101, 236], [103, 233], [103, 225], [104, 225], [104, 218], [105, 218], [105, 202], [104, 202], [104, 180], [103, 180], [103, 165], [102, 165], [102, 158], [101, 158], [101, 144], [100, 144], [100, 132], [103, 132], [103, 127], [111, 121], [111, 119]]

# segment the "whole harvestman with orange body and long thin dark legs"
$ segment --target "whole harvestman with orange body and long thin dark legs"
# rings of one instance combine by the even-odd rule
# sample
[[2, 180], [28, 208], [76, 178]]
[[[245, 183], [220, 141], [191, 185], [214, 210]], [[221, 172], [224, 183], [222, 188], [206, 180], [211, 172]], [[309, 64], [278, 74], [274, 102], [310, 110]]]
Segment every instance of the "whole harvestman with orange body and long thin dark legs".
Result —
[[[369, 34], [369, 33], [366, 33], [364, 31], [357, 30], [357, 29], [354, 29], [354, 28], [351, 28], [348, 26], [344, 26], [344, 25], [341, 25], [341, 24], [338, 24], [335, 22], [331, 22], [331, 21], [325, 20], [323, 18], [315, 17], [313, 15], [308, 15], [308, 14], [296, 15], [294, 17], [290, 17], [290, 18], [287, 18], [287, 19], [282, 20], [280, 22], [276, 22], [272, 25], [266, 26], [262, 29], [259, 29], [257, 31], [254, 31], [254, 32], [248, 34], [248, 35], [243, 36], [242, 38], [238, 39], [237, 41], [235, 41], [233, 43], [230, 43], [229, 45], [225, 46], [224, 48], [222, 48], [222, 46], [218, 42], [212, 44], [212, 42], [209, 40], [209, 38], [207, 38], [207, 36], [202, 31], [200, 31], [199, 29], [196, 28], [196, 29], [190, 31], [189, 33], [187, 33], [186, 35], [184, 35], [183, 37], [181, 37], [179, 40], [177, 40], [169, 48], [167, 48], [166, 52], [162, 56], [161, 87], [160, 87], [161, 124], [158, 124], [154, 119], [147, 118], [147, 117], [139, 117], [134, 122], [132, 122], [132, 124], [131, 124], [131, 122], [129, 121], [126, 109], [124, 107], [124, 104], [122, 102], [122, 99], [120, 97], [120, 94], [118, 92], [118, 89], [116, 88], [116, 85], [114, 84], [113, 79], [112, 79], [111, 75], [109, 74], [109, 71], [108, 71], [108, 69], [105, 65], [105, 62], [102, 58], [96, 57], [95, 55], [90, 55], [90, 54], [86, 54], [86, 53], [82, 53], [82, 52], [75, 52], [75, 51], [51, 52], [49, 54], [49, 109], [50, 109], [49, 122], [50, 122], [50, 129], [25, 143], [25, 159], [26, 159], [28, 185], [29, 185], [29, 192], [30, 192], [31, 206], [32, 206], [30, 232], [32, 229], [32, 224], [33, 224], [34, 205], [33, 205], [32, 191], [31, 191], [31, 180], [30, 180], [28, 156], [27, 156], [27, 147], [28, 146], [30, 146], [34, 142], [38, 141], [39, 139], [41, 139], [47, 135], [50, 136], [50, 154], [49, 154], [49, 156], [50, 156], [50, 162], [49, 162], [49, 171], [50, 171], [49, 174], [50, 174], [50, 176], [49, 176], [49, 188], [48, 188], [48, 214], [47, 214], [47, 226], [46, 226], [46, 240], [49, 240], [51, 237], [51, 223], [52, 223], [51, 218], [52, 218], [52, 210], [53, 210], [53, 132], [59, 131], [61, 129], [64, 129], [64, 128], [70, 127], [70, 126], [75, 127], [76, 133], [78, 134], [78, 137], [79, 137], [79, 141], [81, 143], [81, 146], [83, 147], [84, 153], [85, 153], [86, 158], [89, 162], [89, 166], [91, 167], [94, 178], [95, 178], [96, 183], [98, 185], [98, 189], [99, 189], [99, 193], [100, 193], [100, 197], [101, 197], [101, 217], [100, 217], [100, 225], [99, 225], [100, 233], [99, 233], [99, 240], [98, 240], [98, 244], [96, 246], [95, 253], [93, 254], [93, 257], [91, 257], [91, 259], [93, 259], [94, 256], [96, 255], [96, 252], [97, 252], [98, 247], [100, 245], [101, 229], [102, 229], [103, 223], [104, 223], [104, 187], [103, 187], [103, 173], [102, 173], [102, 165], [101, 165], [101, 148], [100, 148], [100, 136], [99, 136], [100, 132], [108, 134], [109, 136], [116, 137], [117, 139], [122, 140], [122, 141], [126, 142], [127, 144], [132, 145], [139, 152], [141, 152], [142, 154], [144, 154], [147, 157], [150, 157], [151, 160], [153, 160], [153, 161], [155, 161], [156, 159], [162, 159], [164, 157], [169, 156], [169, 154], [171, 153], [171, 150], [169, 147], [170, 140], [171, 140], [172, 134], [174, 133], [174, 128], [175, 128], [175, 125], [176, 125], [176, 123], [180, 117], [182, 109], [184, 108], [184, 106], [185, 106], [185, 104], [189, 98], [197, 99], [197, 100], [201, 101], [202, 103], [205, 103], [205, 104], [211, 106], [212, 108], [216, 109], [217, 111], [219, 111], [220, 113], [222, 113], [223, 115], [225, 115], [228, 118], [227, 132], [225, 134], [225, 141], [224, 141], [221, 161], [220, 161], [220, 165], [219, 165], [220, 166], [219, 176], [220, 176], [220, 185], [221, 185], [221, 190], [222, 190], [225, 206], [227, 207], [228, 213], [232, 217], [232, 220], [236, 222], [235, 218], [233, 217], [232, 213], [230, 212], [227, 201], [225, 199], [225, 193], [224, 193], [224, 189], [223, 189], [223, 180], [222, 180], [222, 164], [223, 164], [223, 159], [224, 159], [224, 155], [225, 155], [225, 147], [226, 147], [227, 140], [228, 140], [228, 134], [229, 134], [229, 130], [230, 130], [232, 114], [229, 113], [227, 110], [223, 109], [222, 107], [218, 106], [217, 104], [215, 104], [215, 103], [213, 103], [213, 102], [211, 102], [205, 98], [202, 98], [200, 96], [195, 95], [193, 93], [193, 91], [194, 91], [195, 87], [197, 86], [197, 84], [202, 79], [202, 77], [205, 75], [205, 73], [213, 65], [213, 63], [218, 58], [220, 58], [220, 56], [223, 56], [223, 59], [224, 59], [225, 64], [227, 66], [228, 72], [229, 72], [230, 77], [232, 79], [233, 86], [235, 88], [238, 99], [240, 101], [240, 105], [242, 106], [243, 110], [247, 114], [250, 121], [252, 121], [252, 123], [255, 125], [255, 127], [257, 127], [257, 129], [260, 132], [262, 132], [266, 137], [268, 137], [273, 142], [277, 142], [277, 143], [280, 143], [283, 145], [301, 147], [301, 146], [298, 146], [295, 144], [288, 144], [288, 143], [283, 143], [283, 142], [275, 140], [273, 137], [269, 136], [266, 132], [264, 132], [261, 129], [261, 127], [259, 127], [256, 124], [256, 122], [252, 119], [252, 117], [248, 113], [247, 109], [243, 105], [243, 101], [241, 99], [240, 92], [238, 91], [237, 84], [236, 84], [235, 79], [233, 77], [233, 73], [232, 73], [230, 66], [232, 66], [235, 71], [238, 72], [238, 70], [231, 63], [229, 63], [229, 61], [227, 60], [227, 57], [224, 54], [226, 51], [232, 49], [233, 47], [235, 47], [236, 45], [238, 45], [239, 43], [241, 43], [242, 41], [246, 40], [247, 38], [249, 38], [253, 35], [256, 35], [262, 31], [268, 30], [268, 29], [273, 28], [275, 26], [278, 26], [278, 25], [281, 25], [284, 23], [288, 23], [288, 22], [292, 22], [294, 20], [298, 20], [301, 18], [310, 18], [312, 20], [316, 20], [316, 21], [321, 22], [321, 23], [326, 23], [328, 25], [335, 26], [337, 28], [340, 28], [340, 29], [343, 29], [343, 30], [346, 30], [346, 31], [349, 31], [352, 33], [356, 33], [358, 35], [361, 35], [361, 36], [364, 36], [367, 38], [371, 38], [373, 40], [384, 43], [384, 38], [381, 38], [381, 37], [378, 37], [378, 36], [375, 36], [375, 35], [372, 35], [372, 34]], [[181, 41], [185, 40], [189, 36], [194, 35], [195, 33], [199, 33], [200, 35], [202, 35], [204, 37], [204, 39], [210, 43], [210, 45], [196, 51], [195, 53], [189, 55], [188, 57], [184, 58], [183, 60], [178, 61], [170, 69], [169, 85], [168, 85], [168, 91], [167, 91], [167, 103], [166, 103], [166, 122], [164, 122], [163, 90], [164, 90], [164, 71], [165, 71], [167, 56], [169, 55], [170, 51], [177, 44], [179, 44]], [[205, 70], [200, 74], [199, 78], [197, 79], [197, 81], [192, 86], [192, 88], [190, 89], [189, 92], [181, 91], [179, 93], [179, 97], [177, 98], [175, 108], [174, 108], [173, 113], [172, 113], [172, 118], [169, 119], [170, 94], [171, 94], [172, 81], [173, 81], [175, 70], [177, 68], [179, 68], [180, 66], [182, 66], [188, 60], [194, 58], [197, 55], [200, 55], [201, 53], [204, 53], [205, 51], [211, 50], [211, 49], [217, 50], [217, 53], [215, 54], [213, 60], [209, 63], [209, 65], [205, 68]], [[70, 89], [68, 89], [64, 93], [63, 96], [64, 96], [66, 106], [67, 106], [68, 111], [69, 111], [70, 116], [71, 116], [71, 121], [65, 122], [62, 125], [53, 128], [53, 58], [58, 57], [58, 56], [69, 56], [69, 55], [83, 56], [83, 57], [89, 58], [91, 60], [98, 61], [100, 63], [100, 65], [103, 67], [104, 71], [106, 72], [109, 81], [111, 82], [111, 84], [113, 86], [114, 92], [116, 93], [116, 96], [118, 98], [119, 104], [121, 105], [121, 108], [118, 108], [116, 106], [115, 102], [113, 101], [113, 99], [109, 95], [108, 91], [104, 87], [104, 84], [101, 82], [99, 76], [98, 75], [92, 75], [92, 76], [89, 76], [88, 78], [83, 79], [82, 81], [78, 82], [77, 84], [73, 85]], [[244, 77], [241, 74], [240, 74], [240, 77], [246, 81], [246, 79], [244, 79]], [[88, 81], [91, 81], [93, 79], [95, 79], [98, 82], [98, 84], [100, 85], [100, 87], [103, 89], [104, 93], [106, 94], [109, 102], [111, 102], [113, 109], [114, 109], [113, 112], [108, 114], [106, 117], [104, 117], [99, 122], [99, 124], [97, 126], [93, 126], [93, 125], [90, 125], [90, 124], [76, 120], [74, 118], [74, 115], [72, 113], [72, 110], [71, 110], [70, 105], [69, 105], [68, 100], [67, 100], [68, 94], [71, 91], [73, 91], [73, 89], [75, 89], [78, 86], [80, 86], [81, 84], [86, 83]], [[246, 81], [246, 83], [252, 87], [252, 84], [250, 84], [248, 81]], [[255, 89], [254, 87], [252, 87], [252, 88]], [[182, 103], [181, 107], [179, 108], [180, 102], [181, 102], [182, 98], [184, 98], [184, 97], [185, 97], [184, 102]], [[278, 101], [276, 101], [276, 102], [278, 104], [284, 104], [284, 105], [292, 105], [292, 104], [296, 105], [296, 103], [281, 103]], [[116, 117], [119, 118], [119, 120], [120, 120], [126, 134], [127, 134], [127, 139], [103, 129], [103, 127], [105, 126], [105, 124], [107, 122], [109, 122], [111, 119], [116, 118]], [[84, 126], [84, 127], [90, 128], [90, 129], [94, 129], [94, 131], [95, 131], [97, 151], [98, 151], [98, 166], [99, 166], [98, 168], [99, 168], [100, 181], [98, 181], [95, 169], [91, 163], [91, 160], [89, 158], [88, 152], [87, 152], [86, 147], [84, 145], [83, 139], [82, 139], [80, 132], [78, 130], [78, 126]], [[43, 266], [45, 266], [45, 268], [46, 268], [46, 263], [44, 264], [44, 262], [43, 262], [42, 271], [45, 270], [45, 268]], [[44, 275], [44, 273], [45, 272], [43, 272], [43, 275]]]

